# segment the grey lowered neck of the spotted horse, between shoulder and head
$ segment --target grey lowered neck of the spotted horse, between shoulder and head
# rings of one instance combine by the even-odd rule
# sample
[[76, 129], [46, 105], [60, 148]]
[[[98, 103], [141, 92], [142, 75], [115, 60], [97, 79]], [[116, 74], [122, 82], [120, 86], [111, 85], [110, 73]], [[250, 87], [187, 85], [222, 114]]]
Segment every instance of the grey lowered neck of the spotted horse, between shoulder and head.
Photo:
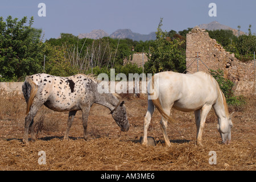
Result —
[[114, 107], [118, 104], [118, 99], [113, 96], [112, 93], [97, 93], [96, 94], [96, 104], [108, 107], [109, 110], [113, 110]]

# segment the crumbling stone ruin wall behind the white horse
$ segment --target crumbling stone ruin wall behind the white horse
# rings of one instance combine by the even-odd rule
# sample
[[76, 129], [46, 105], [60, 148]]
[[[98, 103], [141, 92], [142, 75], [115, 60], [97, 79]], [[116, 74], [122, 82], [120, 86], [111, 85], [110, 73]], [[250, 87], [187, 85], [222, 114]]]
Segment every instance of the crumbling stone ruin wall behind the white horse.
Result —
[[[250, 95], [255, 92], [254, 60], [242, 63], [234, 53], [225, 49], [211, 39], [204, 29], [195, 27], [187, 34], [186, 66], [188, 73], [197, 72], [197, 52], [199, 53], [198, 71], [221, 69], [224, 77], [233, 81], [236, 95]], [[208, 69], [209, 68], [209, 69]]]

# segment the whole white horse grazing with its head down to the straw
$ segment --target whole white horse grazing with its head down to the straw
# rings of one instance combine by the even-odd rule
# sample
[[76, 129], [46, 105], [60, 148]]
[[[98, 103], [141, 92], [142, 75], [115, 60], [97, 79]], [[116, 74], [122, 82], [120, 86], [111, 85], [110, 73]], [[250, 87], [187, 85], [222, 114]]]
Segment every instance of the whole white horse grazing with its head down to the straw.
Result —
[[[175, 72], [160, 72], [155, 74], [148, 82], [148, 108], [144, 118], [144, 137], [142, 144], [147, 146], [147, 129], [154, 113], [155, 107], [162, 114], [160, 126], [166, 146], [170, 140], [166, 133], [167, 121], [174, 121], [170, 117], [171, 108], [180, 111], [194, 111], [197, 128], [197, 144], [201, 145], [202, 133], [210, 109], [213, 107], [217, 117], [217, 129], [223, 143], [231, 140], [230, 119], [226, 99], [217, 81], [204, 72], [194, 74], [181, 74]], [[150, 94], [151, 93], [151, 94]], [[154, 97], [152, 96], [154, 93]], [[202, 113], [200, 115], [200, 110]]]

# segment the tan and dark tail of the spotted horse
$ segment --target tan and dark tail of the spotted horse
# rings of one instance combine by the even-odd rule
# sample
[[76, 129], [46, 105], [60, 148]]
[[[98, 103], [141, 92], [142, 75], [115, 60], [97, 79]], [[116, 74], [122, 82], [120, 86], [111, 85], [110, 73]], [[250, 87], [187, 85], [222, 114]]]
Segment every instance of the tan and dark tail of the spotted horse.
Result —
[[38, 85], [36, 85], [35, 82], [32, 81], [30, 77], [26, 77], [26, 80], [22, 85], [22, 92], [27, 102], [26, 114], [28, 114], [28, 112], [30, 111], [32, 102], [34, 100], [35, 94], [38, 92]]

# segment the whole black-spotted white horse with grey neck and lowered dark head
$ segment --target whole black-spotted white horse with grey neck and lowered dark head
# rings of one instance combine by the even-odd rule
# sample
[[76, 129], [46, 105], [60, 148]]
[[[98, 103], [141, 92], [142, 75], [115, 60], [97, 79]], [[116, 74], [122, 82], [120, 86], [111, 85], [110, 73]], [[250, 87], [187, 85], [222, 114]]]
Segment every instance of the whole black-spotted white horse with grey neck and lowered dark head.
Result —
[[28, 143], [28, 131], [31, 140], [36, 140], [34, 117], [42, 105], [54, 111], [69, 111], [67, 130], [64, 139], [68, 139], [69, 129], [78, 110], [82, 111], [84, 139], [88, 139], [87, 121], [90, 107], [96, 103], [108, 107], [113, 119], [121, 131], [129, 130], [124, 101], [119, 101], [112, 93], [98, 93], [97, 81], [87, 75], [57, 77], [45, 73], [27, 76], [22, 85], [22, 92], [27, 102], [23, 142]]

